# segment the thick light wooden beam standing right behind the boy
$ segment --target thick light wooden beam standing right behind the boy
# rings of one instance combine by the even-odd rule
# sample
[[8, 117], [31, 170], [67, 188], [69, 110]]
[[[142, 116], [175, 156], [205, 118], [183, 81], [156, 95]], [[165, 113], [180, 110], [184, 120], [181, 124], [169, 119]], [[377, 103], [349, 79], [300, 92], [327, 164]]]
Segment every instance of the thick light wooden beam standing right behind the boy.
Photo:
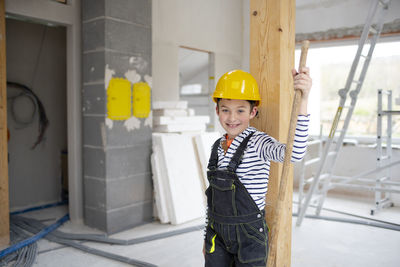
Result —
[[[250, 1], [250, 73], [256, 78], [261, 93], [258, 118], [252, 125], [278, 141], [286, 142], [291, 104], [294, 96], [291, 69], [294, 67], [295, 0]], [[274, 247], [275, 266], [290, 266], [293, 169], [289, 172], [281, 224], [272, 225], [281, 177], [282, 164], [272, 163], [266, 199], [266, 220], [280, 227]], [[269, 266], [271, 267], [271, 266]]]

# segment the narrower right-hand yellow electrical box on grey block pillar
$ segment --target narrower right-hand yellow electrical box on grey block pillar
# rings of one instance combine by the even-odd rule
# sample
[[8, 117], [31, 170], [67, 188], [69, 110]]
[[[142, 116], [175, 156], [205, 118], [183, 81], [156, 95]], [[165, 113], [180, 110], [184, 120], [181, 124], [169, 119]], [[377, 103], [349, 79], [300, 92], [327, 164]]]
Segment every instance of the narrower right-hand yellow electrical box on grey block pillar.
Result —
[[138, 82], [133, 85], [133, 116], [147, 118], [151, 108], [151, 89], [145, 82]]

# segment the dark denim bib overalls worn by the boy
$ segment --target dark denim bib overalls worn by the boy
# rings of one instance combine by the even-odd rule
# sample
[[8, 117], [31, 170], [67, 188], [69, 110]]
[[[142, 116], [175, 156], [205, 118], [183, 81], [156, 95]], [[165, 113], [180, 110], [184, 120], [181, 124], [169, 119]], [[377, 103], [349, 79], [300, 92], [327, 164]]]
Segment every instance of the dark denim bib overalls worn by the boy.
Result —
[[235, 173], [252, 135], [239, 145], [227, 170], [217, 169], [220, 140], [213, 145], [207, 172], [206, 267], [266, 265], [268, 228], [264, 211]]

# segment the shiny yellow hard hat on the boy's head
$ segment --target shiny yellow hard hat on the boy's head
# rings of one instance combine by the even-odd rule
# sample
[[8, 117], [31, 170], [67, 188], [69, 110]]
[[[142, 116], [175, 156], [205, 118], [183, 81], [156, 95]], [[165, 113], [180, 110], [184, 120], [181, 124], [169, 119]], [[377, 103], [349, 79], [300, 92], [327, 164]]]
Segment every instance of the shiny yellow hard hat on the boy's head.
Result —
[[232, 70], [222, 75], [215, 87], [214, 102], [218, 98], [252, 100], [256, 101], [256, 106], [261, 102], [256, 79], [242, 70]]

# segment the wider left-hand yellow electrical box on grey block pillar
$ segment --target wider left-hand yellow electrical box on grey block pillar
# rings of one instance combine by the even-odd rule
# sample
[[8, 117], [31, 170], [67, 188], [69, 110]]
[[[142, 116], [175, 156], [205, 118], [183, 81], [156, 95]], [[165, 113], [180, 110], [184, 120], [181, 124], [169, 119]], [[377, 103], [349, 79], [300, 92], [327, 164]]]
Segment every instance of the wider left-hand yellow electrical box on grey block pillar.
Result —
[[131, 83], [127, 79], [112, 78], [107, 88], [107, 116], [112, 120], [126, 120], [132, 116]]

